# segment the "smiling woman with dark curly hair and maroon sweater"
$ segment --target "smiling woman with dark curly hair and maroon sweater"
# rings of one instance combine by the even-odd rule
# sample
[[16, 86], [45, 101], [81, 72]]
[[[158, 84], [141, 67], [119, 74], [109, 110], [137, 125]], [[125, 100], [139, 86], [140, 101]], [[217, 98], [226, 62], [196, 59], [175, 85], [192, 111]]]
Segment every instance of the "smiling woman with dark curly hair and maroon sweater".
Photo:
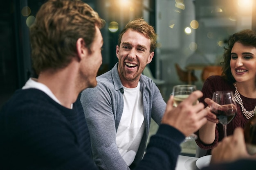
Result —
[[[200, 102], [204, 106], [213, 92], [230, 90], [234, 93], [238, 111], [235, 118], [227, 125], [227, 135], [231, 135], [236, 127], [244, 127], [254, 115], [256, 105], [256, 32], [243, 30], [228, 39], [223, 54], [222, 76], [210, 76], [205, 81]], [[207, 99], [206, 99], [207, 98]], [[206, 100], [205, 100], [206, 99]], [[209, 109], [210, 110], [210, 109]], [[197, 132], [196, 143], [206, 149], [207, 155], [224, 137], [222, 124], [209, 113], [206, 124]]]

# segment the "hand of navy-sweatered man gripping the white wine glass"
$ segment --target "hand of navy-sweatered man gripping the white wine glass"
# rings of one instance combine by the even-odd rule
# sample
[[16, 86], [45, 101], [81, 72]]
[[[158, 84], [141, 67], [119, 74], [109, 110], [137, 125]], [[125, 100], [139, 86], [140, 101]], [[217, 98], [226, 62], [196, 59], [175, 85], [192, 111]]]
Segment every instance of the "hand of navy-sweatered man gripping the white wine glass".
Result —
[[[199, 90], [191, 93], [188, 98], [181, 102], [177, 107], [173, 107], [173, 96], [167, 102], [166, 110], [162, 118], [162, 124], [175, 127], [185, 136], [191, 135], [207, 122], [208, 111], [204, 105], [195, 102], [203, 94]], [[195, 104], [196, 103], [196, 104]]]

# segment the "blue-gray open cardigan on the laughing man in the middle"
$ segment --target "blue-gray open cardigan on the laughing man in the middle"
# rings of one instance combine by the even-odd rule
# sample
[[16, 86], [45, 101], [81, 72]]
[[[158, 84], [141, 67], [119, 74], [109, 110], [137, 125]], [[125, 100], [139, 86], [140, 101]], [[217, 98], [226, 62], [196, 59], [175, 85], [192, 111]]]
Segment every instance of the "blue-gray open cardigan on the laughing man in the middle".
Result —
[[[80, 99], [90, 132], [94, 161], [104, 170], [129, 169], [116, 145], [116, 132], [124, 109], [124, 89], [117, 64], [112, 70], [98, 76], [98, 85], [85, 89]], [[145, 131], [133, 161], [135, 165], [144, 154], [151, 117], [159, 125], [166, 109], [166, 103], [155, 83], [142, 74], [139, 81], [143, 96]]]

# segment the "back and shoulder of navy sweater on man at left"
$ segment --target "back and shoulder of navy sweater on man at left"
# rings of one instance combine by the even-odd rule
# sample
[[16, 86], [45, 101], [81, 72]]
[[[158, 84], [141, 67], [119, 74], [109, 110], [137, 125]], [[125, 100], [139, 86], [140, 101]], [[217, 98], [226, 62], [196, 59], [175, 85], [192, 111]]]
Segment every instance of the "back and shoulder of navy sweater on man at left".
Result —
[[85, 169], [90, 136], [79, 100], [67, 109], [38, 89], [18, 90], [0, 113], [0, 169]]

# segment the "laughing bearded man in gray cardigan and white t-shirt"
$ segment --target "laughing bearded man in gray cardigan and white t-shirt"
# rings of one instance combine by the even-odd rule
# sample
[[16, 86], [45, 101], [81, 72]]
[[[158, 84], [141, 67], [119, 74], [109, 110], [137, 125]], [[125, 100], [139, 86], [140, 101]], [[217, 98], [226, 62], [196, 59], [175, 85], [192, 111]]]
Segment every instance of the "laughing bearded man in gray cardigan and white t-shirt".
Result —
[[119, 62], [81, 94], [94, 161], [102, 169], [134, 168], [141, 160], [151, 118], [161, 123], [166, 103], [153, 81], [142, 75], [156, 48], [154, 28], [130, 21], [119, 35]]

